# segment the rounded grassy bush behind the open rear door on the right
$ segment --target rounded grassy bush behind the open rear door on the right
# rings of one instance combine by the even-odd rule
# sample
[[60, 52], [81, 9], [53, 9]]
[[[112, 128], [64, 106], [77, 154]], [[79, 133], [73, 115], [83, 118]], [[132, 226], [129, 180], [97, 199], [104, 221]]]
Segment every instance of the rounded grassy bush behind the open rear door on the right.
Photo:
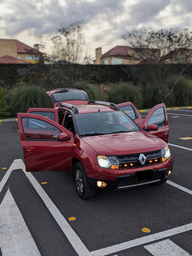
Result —
[[131, 101], [136, 108], [142, 107], [142, 92], [137, 86], [131, 83], [121, 82], [109, 94], [110, 101], [118, 104]]

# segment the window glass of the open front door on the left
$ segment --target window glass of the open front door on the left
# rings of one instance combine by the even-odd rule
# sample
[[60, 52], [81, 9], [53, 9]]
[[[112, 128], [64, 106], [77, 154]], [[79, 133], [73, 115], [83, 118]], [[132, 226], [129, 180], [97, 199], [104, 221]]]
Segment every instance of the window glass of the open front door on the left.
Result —
[[61, 130], [54, 125], [37, 118], [21, 119], [26, 140], [57, 140]]

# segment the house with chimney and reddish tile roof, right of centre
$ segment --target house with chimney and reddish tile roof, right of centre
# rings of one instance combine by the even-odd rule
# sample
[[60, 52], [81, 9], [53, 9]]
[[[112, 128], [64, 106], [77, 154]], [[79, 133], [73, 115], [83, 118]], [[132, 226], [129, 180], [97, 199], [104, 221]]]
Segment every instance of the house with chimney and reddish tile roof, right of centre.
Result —
[[145, 59], [159, 59], [159, 49], [131, 48], [115, 46], [102, 54], [102, 48], [95, 49], [95, 65], [137, 65]]

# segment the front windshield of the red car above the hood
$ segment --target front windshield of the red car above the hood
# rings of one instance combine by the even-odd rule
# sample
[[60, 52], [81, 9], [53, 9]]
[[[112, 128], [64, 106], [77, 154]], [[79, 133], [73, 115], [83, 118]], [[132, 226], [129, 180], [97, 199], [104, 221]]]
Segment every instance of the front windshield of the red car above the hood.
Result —
[[78, 134], [82, 136], [139, 131], [137, 124], [123, 111], [78, 114], [76, 123]]

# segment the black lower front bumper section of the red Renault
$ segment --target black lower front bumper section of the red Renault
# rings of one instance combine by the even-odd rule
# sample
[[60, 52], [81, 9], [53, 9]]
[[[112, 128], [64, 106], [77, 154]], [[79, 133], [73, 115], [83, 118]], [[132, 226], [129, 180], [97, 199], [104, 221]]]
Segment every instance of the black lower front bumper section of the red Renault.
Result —
[[[172, 170], [172, 169], [169, 169], [169, 170]], [[100, 180], [100, 179], [93, 179], [90, 177], [87, 177], [87, 178], [92, 187], [97, 187], [96, 182], [100, 180], [107, 183], [107, 186], [102, 189], [112, 191], [117, 189], [126, 189], [126, 188], [131, 188], [136, 186], [157, 183], [167, 179], [168, 177], [169, 176], [168, 176], [167, 168], [161, 168], [156, 170], [153, 170], [153, 169], [147, 169], [142, 171], [139, 170], [134, 174], [117, 176], [115, 180]]]

